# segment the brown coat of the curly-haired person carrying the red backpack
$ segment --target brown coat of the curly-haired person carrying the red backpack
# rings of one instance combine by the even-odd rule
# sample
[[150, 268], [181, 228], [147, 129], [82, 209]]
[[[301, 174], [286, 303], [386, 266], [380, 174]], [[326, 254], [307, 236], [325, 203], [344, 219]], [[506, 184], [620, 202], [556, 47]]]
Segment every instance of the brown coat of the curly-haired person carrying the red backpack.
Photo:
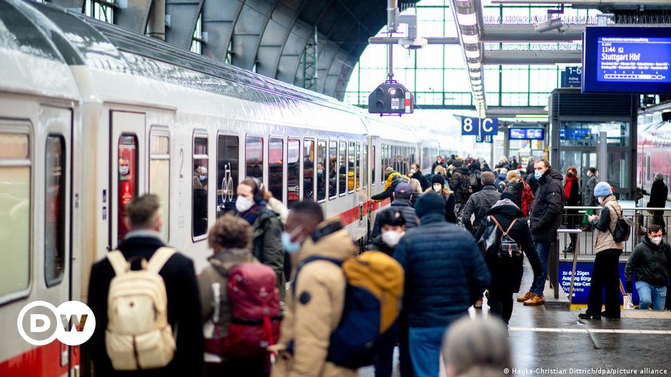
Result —
[[[198, 291], [201, 292], [203, 313], [203, 335], [213, 339], [218, 334], [228, 335], [231, 324], [231, 303], [228, 301], [228, 272], [238, 264], [256, 261], [246, 249], [228, 249], [208, 258], [210, 265], [198, 275]], [[217, 292], [215, 294], [215, 291]], [[214, 314], [217, 313], [217, 317]], [[216, 326], [216, 329], [215, 329]], [[215, 331], [216, 330], [216, 331]], [[206, 353], [206, 361], [221, 362], [221, 356]]]

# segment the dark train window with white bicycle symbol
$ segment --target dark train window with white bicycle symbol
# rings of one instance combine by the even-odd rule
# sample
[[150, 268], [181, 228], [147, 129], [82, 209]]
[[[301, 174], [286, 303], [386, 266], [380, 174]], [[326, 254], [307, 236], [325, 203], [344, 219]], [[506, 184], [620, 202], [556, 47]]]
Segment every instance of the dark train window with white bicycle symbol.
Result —
[[217, 217], [236, 207], [238, 188], [238, 154], [240, 139], [237, 136], [217, 137]]

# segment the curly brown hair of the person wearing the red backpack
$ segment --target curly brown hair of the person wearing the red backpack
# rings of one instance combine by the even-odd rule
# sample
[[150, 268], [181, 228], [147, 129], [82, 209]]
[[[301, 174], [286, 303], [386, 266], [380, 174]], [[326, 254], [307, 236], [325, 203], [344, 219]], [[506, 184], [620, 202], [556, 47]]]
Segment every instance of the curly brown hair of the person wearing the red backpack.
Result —
[[211, 249], [248, 249], [252, 232], [247, 220], [229, 213], [219, 217], [210, 228], [207, 242]]

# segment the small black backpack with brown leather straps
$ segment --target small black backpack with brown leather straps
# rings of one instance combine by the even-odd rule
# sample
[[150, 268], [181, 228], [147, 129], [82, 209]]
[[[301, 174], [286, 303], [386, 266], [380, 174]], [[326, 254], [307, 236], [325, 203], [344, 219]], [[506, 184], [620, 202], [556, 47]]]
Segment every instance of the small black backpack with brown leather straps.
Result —
[[[489, 220], [492, 221], [490, 222]], [[496, 221], [495, 217], [492, 215], [488, 217], [487, 227], [485, 228], [483, 237], [480, 237], [480, 240], [478, 241], [478, 247], [480, 247], [480, 250], [485, 254], [486, 258], [502, 264], [522, 259], [522, 250], [515, 239], [508, 234], [517, 221], [518, 219], [514, 219], [513, 222], [510, 222], [510, 226], [504, 231], [503, 227]], [[501, 231], [500, 236], [497, 229]]]

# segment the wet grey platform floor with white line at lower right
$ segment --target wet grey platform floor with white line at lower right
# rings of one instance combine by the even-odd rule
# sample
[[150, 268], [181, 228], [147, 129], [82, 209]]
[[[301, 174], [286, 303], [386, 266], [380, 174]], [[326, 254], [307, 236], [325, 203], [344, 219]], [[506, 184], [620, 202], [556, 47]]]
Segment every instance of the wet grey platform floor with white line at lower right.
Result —
[[[523, 290], [530, 286], [532, 277], [530, 266], [525, 264]], [[513, 375], [528, 376], [531, 372], [533, 376], [671, 375], [671, 312], [622, 311], [620, 320], [596, 321], [578, 319], [580, 311], [515, 303], [509, 329], [513, 371], [517, 372]], [[470, 308], [470, 314], [488, 316], [486, 303], [483, 310]], [[607, 373], [598, 371], [599, 368], [620, 370]], [[445, 376], [442, 369], [440, 376]], [[651, 369], [662, 371], [655, 373]], [[362, 369], [360, 376], [373, 377], [375, 373], [369, 367]], [[398, 376], [395, 365], [393, 377]]]

